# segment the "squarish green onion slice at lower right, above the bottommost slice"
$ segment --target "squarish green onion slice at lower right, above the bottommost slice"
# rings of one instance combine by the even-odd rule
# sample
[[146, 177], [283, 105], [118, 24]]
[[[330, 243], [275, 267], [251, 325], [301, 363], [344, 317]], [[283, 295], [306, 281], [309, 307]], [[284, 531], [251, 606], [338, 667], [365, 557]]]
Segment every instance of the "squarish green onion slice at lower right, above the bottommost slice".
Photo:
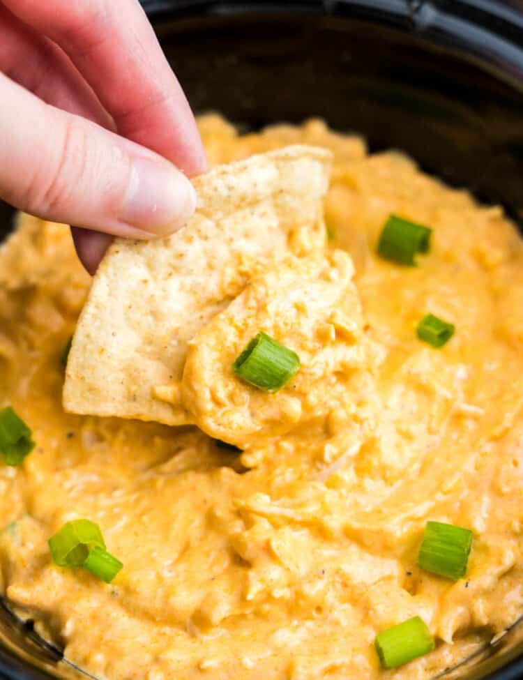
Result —
[[454, 524], [427, 522], [418, 552], [418, 566], [455, 581], [467, 571], [472, 531]]

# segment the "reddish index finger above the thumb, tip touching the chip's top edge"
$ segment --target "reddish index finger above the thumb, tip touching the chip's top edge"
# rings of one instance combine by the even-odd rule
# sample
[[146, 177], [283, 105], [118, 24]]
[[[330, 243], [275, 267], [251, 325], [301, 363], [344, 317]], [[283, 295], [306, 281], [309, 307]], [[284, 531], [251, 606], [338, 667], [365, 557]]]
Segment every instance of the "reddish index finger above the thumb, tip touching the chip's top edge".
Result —
[[3, 0], [70, 56], [119, 134], [189, 175], [205, 153], [181, 86], [137, 0]]

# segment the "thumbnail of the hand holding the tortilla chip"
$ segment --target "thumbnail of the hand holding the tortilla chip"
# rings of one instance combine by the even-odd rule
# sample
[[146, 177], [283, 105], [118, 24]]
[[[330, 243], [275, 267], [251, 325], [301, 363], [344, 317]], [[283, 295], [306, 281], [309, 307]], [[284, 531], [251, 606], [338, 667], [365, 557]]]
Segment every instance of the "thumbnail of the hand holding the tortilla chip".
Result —
[[196, 206], [196, 192], [174, 165], [135, 158], [119, 219], [149, 234], [167, 236], [185, 225]]

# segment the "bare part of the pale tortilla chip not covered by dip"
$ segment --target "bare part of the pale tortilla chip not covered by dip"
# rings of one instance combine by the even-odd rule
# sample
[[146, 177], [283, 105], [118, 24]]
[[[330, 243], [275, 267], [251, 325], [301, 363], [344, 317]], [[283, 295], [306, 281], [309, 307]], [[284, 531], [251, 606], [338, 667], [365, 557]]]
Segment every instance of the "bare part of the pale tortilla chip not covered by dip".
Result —
[[116, 239], [80, 315], [66, 370], [67, 411], [183, 425], [188, 342], [290, 251], [325, 247], [331, 153], [252, 156], [197, 177], [195, 215], [167, 239]]

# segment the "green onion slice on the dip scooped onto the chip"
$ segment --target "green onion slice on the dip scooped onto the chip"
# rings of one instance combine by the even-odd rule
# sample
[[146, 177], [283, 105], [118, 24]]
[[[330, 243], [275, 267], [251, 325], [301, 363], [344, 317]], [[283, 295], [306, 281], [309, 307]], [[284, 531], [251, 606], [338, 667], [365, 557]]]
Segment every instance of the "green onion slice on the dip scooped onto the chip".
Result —
[[296, 375], [298, 368], [298, 355], [266, 333], [252, 338], [232, 365], [238, 377], [267, 392], [278, 392]]

